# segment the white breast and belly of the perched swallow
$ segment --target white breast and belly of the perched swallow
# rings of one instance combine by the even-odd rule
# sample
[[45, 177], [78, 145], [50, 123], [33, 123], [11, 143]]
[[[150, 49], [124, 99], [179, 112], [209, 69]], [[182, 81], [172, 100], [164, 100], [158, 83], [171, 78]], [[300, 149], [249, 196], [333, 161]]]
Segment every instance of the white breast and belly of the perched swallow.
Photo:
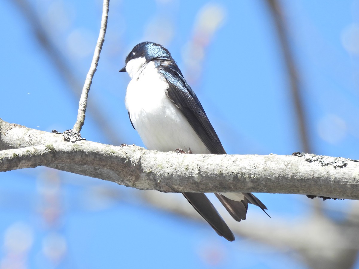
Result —
[[180, 110], [167, 96], [167, 81], [153, 62], [133, 76], [127, 86], [125, 104], [131, 121], [149, 150], [174, 151], [182, 148], [209, 154], [201, 139]]

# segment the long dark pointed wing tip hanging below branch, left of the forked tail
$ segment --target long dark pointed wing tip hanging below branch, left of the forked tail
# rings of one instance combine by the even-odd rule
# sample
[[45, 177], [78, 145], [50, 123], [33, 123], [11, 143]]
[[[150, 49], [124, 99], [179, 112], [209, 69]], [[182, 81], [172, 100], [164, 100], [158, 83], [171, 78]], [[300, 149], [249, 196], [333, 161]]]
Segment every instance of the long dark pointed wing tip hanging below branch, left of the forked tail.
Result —
[[182, 194], [220, 236], [223, 236], [228, 241], [234, 240], [232, 231], [204, 193], [191, 192]]

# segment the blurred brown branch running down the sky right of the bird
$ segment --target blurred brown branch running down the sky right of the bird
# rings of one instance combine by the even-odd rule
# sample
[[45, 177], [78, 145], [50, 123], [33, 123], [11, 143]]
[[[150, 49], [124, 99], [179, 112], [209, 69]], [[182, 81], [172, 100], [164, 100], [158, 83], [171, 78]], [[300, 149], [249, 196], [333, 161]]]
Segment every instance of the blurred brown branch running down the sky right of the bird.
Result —
[[303, 151], [312, 152], [311, 145], [309, 143], [307, 119], [304, 113], [304, 105], [300, 90], [300, 81], [298, 68], [294, 61], [292, 49], [290, 47], [289, 37], [286, 30], [288, 23], [283, 15], [283, 10], [278, 0], [267, 0], [270, 14], [272, 15], [275, 27], [278, 33], [279, 41], [281, 44], [281, 50], [283, 51], [285, 65], [288, 70], [288, 77], [290, 81], [290, 88], [292, 90], [293, 104], [295, 113], [297, 115], [297, 122], [300, 130], [300, 140], [302, 141]]

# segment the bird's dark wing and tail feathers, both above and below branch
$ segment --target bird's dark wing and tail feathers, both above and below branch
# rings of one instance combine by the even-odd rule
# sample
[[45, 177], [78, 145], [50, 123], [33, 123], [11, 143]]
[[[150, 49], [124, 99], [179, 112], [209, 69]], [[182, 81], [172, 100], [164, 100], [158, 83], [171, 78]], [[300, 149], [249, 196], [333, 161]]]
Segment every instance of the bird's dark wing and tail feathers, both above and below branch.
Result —
[[[185, 115], [187, 121], [191, 124], [192, 128], [201, 138], [211, 154], [226, 154], [200, 101], [194, 91], [192, 91], [191, 87], [187, 84], [180, 69], [178, 69], [178, 66], [175, 63], [168, 61], [161, 64], [160, 60], [157, 62], [157, 66], [159, 72], [168, 82], [169, 89], [167, 95], [169, 99], [171, 99], [176, 107], [180, 109], [183, 115]], [[233, 233], [204, 193], [182, 194], [220, 236], [224, 236], [225, 239], [229, 241], [234, 240]], [[259, 206], [263, 211], [264, 209], [267, 209], [253, 194], [243, 194], [244, 200], [241, 202], [230, 200], [222, 194], [215, 195], [236, 221], [246, 219], [248, 203], [253, 203]]]

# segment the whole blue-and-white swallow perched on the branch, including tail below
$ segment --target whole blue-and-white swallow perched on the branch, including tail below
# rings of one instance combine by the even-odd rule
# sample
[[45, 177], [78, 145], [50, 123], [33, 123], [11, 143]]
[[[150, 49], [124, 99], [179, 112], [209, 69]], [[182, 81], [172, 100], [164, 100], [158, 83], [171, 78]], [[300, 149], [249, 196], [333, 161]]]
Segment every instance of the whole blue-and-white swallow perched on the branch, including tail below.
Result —
[[[141, 42], [125, 59], [131, 78], [125, 106], [132, 127], [148, 150], [226, 154], [199, 99], [171, 53], [160, 44]], [[234, 235], [204, 193], [182, 193], [209, 225], [228, 241]], [[248, 203], [267, 207], [252, 193], [215, 193], [236, 221], [246, 219]], [[268, 215], [268, 214], [267, 214]], [[269, 216], [269, 215], [268, 215]]]

